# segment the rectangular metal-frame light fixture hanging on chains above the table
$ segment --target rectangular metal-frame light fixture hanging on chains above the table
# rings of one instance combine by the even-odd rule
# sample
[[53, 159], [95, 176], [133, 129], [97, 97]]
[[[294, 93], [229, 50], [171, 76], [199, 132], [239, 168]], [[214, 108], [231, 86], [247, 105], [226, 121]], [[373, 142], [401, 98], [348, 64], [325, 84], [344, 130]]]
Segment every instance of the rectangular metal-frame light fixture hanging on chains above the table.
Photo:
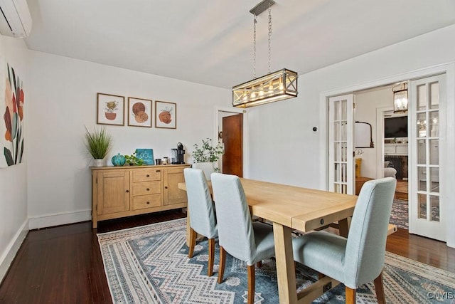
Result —
[[[297, 78], [299, 75], [286, 68], [270, 72], [270, 38], [272, 36], [272, 13], [270, 7], [275, 2], [264, 0], [250, 10], [254, 20], [254, 47], [253, 47], [253, 80], [232, 87], [232, 105], [237, 108], [249, 108], [278, 100], [285, 100], [297, 96]], [[269, 73], [256, 78], [256, 17], [266, 9], [269, 10]]]

